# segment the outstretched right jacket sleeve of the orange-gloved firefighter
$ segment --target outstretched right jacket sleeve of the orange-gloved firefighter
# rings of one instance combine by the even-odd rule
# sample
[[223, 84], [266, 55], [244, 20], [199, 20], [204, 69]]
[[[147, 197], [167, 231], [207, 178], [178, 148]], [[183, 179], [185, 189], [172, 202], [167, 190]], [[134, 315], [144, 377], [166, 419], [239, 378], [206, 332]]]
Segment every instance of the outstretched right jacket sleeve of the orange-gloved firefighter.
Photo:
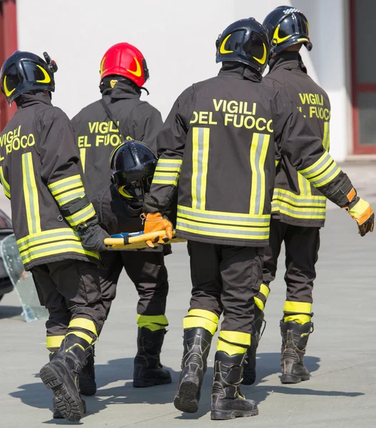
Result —
[[271, 103], [274, 136], [282, 155], [303, 177], [340, 208], [357, 193], [350, 179], [335, 163], [292, 101], [277, 93]]

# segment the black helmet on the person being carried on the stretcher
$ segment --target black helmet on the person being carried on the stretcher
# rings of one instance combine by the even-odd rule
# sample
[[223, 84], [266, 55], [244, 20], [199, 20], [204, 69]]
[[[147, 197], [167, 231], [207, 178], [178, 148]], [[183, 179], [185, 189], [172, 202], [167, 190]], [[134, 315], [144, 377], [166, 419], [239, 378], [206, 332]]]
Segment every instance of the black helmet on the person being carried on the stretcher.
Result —
[[145, 144], [125, 141], [111, 154], [111, 181], [125, 198], [141, 201], [150, 189], [157, 161]]

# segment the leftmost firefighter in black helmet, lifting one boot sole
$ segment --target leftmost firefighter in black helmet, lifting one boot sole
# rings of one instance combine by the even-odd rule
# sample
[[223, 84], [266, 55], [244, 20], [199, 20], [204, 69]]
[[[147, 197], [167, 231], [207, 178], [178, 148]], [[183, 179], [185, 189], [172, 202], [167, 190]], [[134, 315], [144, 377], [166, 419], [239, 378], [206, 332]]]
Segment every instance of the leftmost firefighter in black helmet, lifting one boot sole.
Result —
[[21, 260], [49, 310], [41, 379], [61, 416], [78, 422], [77, 374], [106, 316], [97, 262], [108, 233], [85, 193], [71, 122], [51, 104], [57, 66], [44, 57], [16, 51], [1, 68], [1, 90], [17, 111], [0, 136], [0, 178]]

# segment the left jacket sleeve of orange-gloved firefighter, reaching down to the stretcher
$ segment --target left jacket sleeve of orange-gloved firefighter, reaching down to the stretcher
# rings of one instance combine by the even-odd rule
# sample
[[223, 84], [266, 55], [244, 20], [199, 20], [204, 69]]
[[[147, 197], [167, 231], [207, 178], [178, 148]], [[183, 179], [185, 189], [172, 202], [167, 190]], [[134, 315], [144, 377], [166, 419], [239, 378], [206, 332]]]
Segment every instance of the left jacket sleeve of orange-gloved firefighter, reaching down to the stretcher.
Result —
[[190, 87], [175, 101], [157, 137], [158, 164], [150, 193], [145, 197], [145, 213], [168, 213], [176, 199], [184, 149], [192, 116], [194, 91]]

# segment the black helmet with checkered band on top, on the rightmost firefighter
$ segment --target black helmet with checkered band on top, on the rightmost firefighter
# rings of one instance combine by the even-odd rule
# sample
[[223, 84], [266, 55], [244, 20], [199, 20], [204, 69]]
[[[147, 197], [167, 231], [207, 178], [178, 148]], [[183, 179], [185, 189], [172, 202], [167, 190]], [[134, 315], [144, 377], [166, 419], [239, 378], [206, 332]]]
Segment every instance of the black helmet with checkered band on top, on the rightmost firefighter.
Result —
[[308, 20], [298, 9], [279, 6], [268, 14], [263, 26], [268, 30], [272, 54], [279, 54], [298, 43], [303, 43], [308, 51], [312, 49]]

